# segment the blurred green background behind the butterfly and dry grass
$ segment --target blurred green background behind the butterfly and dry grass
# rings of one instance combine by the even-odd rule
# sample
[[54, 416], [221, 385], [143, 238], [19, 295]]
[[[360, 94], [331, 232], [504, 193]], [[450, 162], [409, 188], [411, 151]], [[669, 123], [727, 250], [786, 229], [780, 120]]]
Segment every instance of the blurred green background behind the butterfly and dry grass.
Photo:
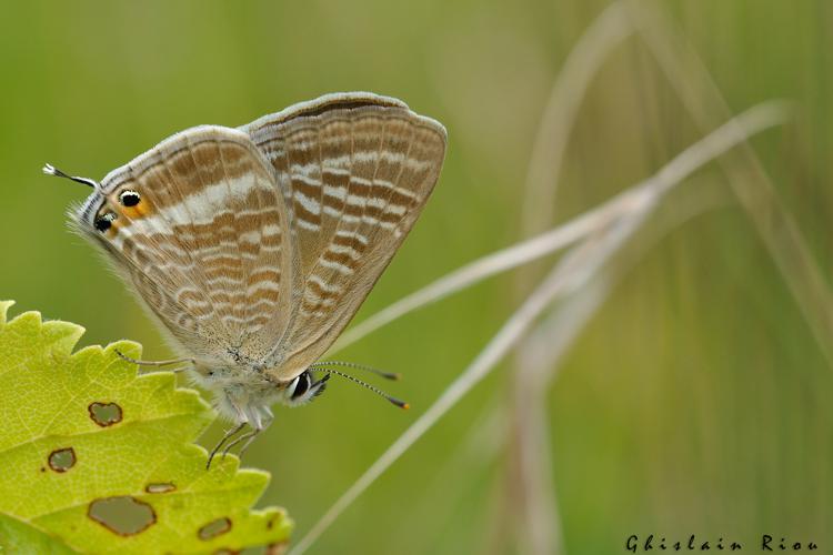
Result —
[[[442, 121], [450, 144], [431, 202], [361, 320], [521, 238], [550, 89], [605, 6], [4, 2], [0, 297], [82, 324], [84, 343], [129, 337], [145, 359], [165, 357], [124, 286], [63, 224], [87, 190], [42, 176], [42, 164], [101, 178], [191, 125], [239, 125], [321, 93], [370, 90]], [[753, 145], [829, 286], [833, 4], [643, 6], [691, 41], [733, 111], [796, 102], [795, 120]], [[701, 134], [640, 38], [623, 41], [582, 101], [546, 226], [650, 175]], [[684, 185], [684, 202], [726, 185], [713, 164]], [[747, 215], [731, 194], [721, 199], [648, 250], [548, 393], [563, 552], [625, 553], [629, 535], [653, 533], [723, 537], [753, 552], [771, 534], [833, 553], [830, 362]], [[397, 412], [345, 383], [309, 407], [279, 408], [247, 458], [273, 476], [261, 503], [288, 507], [300, 537], [479, 353], [523, 291], [514, 275], [493, 279], [340, 353], [404, 373], [390, 389], [414, 408]], [[513, 379], [510, 361], [311, 553], [524, 553], [513, 444], [500, 425], [483, 427], [494, 424], [483, 417], [490, 407], [508, 404]]]

